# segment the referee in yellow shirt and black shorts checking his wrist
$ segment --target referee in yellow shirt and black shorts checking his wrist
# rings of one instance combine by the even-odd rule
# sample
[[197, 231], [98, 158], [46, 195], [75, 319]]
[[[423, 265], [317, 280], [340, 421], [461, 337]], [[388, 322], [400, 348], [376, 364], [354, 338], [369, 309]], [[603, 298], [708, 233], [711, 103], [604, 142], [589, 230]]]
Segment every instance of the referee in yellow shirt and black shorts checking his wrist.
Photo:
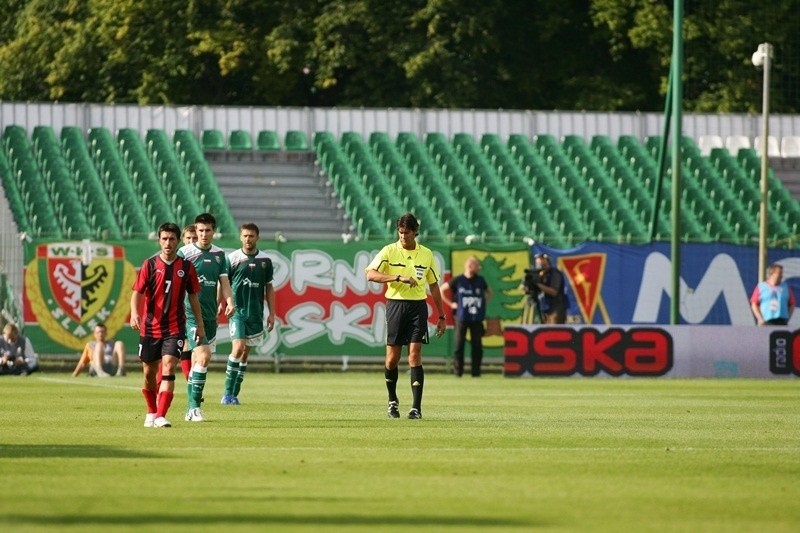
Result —
[[367, 280], [386, 284], [386, 389], [389, 392], [389, 418], [400, 418], [397, 399], [397, 364], [402, 347], [408, 345], [411, 369], [412, 406], [408, 418], [422, 418], [422, 345], [428, 343], [428, 304], [425, 282], [439, 312], [436, 336], [444, 333], [444, 307], [439, 291], [439, 275], [430, 249], [416, 241], [419, 222], [411, 213], [397, 219], [399, 240], [388, 244], [364, 269]]

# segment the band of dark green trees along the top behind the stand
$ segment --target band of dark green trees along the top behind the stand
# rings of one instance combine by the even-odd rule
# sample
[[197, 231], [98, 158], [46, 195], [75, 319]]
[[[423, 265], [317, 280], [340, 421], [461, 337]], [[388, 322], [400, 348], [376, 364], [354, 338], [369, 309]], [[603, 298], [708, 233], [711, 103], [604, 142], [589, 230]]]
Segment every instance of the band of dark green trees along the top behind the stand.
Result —
[[[685, 108], [800, 106], [800, 0], [685, 8]], [[663, 108], [672, 2], [8, 0], [0, 99], [139, 104]]]

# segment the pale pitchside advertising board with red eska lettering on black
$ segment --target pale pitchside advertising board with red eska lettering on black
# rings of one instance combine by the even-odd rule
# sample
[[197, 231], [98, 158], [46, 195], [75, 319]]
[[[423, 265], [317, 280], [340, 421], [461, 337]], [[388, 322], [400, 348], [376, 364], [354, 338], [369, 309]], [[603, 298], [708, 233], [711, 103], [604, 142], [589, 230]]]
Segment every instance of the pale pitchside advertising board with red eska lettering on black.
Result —
[[513, 376], [800, 376], [800, 331], [758, 326], [510, 326]]

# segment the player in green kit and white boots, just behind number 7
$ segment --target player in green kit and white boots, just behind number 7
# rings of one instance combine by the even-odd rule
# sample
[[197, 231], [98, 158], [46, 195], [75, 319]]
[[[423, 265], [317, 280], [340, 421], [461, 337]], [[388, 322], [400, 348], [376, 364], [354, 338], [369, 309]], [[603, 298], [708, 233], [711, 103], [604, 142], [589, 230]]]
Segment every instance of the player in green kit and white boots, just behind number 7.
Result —
[[[192, 349], [192, 373], [189, 376], [188, 406], [186, 410], [187, 422], [203, 422], [205, 417], [200, 409], [203, 401], [203, 389], [206, 386], [208, 364], [211, 354], [217, 346], [217, 312], [219, 298], [217, 285], [221, 291], [222, 300], [226, 302], [225, 316], [230, 317], [235, 310], [231, 284], [228, 280], [230, 266], [225, 251], [212, 244], [214, 231], [217, 229], [217, 219], [211, 213], [202, 213], [194, 219], [197, 242], [187, 244], [178, 250], [180, 257], [185, 257], [193, 265], [200, 279], [200, 308], [201, 313], [194, 310], [186, 317], [186, 336], [189, 338], [189, 347]], [[202, 324], [205, 336], [196, 334]]]

